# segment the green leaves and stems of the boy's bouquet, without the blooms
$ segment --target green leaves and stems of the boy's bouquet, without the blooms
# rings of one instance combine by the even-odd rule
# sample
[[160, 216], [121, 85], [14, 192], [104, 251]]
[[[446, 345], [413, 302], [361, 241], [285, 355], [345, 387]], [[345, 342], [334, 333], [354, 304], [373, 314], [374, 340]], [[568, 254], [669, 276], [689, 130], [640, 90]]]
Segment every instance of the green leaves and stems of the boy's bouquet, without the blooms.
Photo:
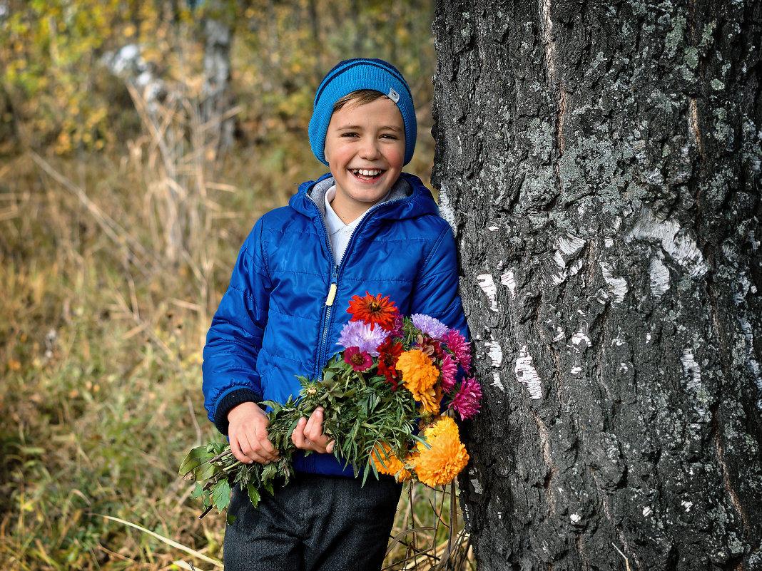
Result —
[[298, 400], [263, 403], [271, 409], [267, 413], [270, 419], [267, 435], [280, 453], [276, 463], [242, 464], [232, 457], [229, 448], [221, 449], [214, 443], [188, 452], [179, 475], [207, 482], [194, 495], [203, 499], [202, 512], [210, 506], [220, 512], [227, 509], [230, 480], [248, 490], [255, 506], [263, 490], [272, 493], [276, 480], [287, 484], [296, 453], [291, 432], [300, 418], [309, 417], [317, 407], [325, 407], [323, 430], [336, 440], [334, 454], [347, 465], [352, 464], [356, 476], [363, 471], [363, 483], [368, 474], [378, 477], [371, 455], [379, 442], [386, 442], [400, 455], [407, 451], [412, 440], [412, 421], [418, 415], [409, 391], [404, 388], [392, 391], [383, 375], [355, 372], [339, 358], [326, 366], [322, 380], [299, 378], [299, 381], [302, 390]]

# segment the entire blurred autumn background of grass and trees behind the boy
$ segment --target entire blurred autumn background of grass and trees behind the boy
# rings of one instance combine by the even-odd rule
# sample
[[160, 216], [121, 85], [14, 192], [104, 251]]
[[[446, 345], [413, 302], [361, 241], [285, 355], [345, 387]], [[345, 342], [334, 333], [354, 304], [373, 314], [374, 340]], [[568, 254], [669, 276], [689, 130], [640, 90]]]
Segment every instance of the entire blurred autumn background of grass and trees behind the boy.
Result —
[[[341, 59], [408, 78], [407, 170], [428, 183], [433, 15], [433, 0], [0, 0], [2, 569], [213, 568], [181, 547], [219, 559], [223, 518], [199, 521], [176, 474], [221, 439], [200, 354], [232, 263], [259, 215], [325, 171], [307, 124]], [[410, 493], [398, 531], [450, 502]]]

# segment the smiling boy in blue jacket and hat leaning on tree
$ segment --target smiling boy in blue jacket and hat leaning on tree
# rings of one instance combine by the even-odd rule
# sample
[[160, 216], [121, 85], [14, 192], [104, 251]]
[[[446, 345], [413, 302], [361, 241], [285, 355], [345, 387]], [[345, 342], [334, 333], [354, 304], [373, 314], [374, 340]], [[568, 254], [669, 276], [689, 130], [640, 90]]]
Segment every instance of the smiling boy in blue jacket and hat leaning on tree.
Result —
[[[233, 455], [267, 464], [261, 400], [299, 393], [338, 350], [353, 295], [389, 295], [402, 314], [423, 313], [466, 333], [453, 234], [431, 193], [402, 173], [416, 120], [405, 79], [379, 59], [350, 59], [315, 94], [309, 142], [330, 174], [303, 183], [289, 206], [258, 220], [243, 244], [203, 357], [209, 418]], [[225, 534], [227, 571], [380, 569], [401, 486], [365, 486], [331, 454], [322, 409], [292, 434], [303, 451], [295, 476], [251, 506], [234, 490]]]

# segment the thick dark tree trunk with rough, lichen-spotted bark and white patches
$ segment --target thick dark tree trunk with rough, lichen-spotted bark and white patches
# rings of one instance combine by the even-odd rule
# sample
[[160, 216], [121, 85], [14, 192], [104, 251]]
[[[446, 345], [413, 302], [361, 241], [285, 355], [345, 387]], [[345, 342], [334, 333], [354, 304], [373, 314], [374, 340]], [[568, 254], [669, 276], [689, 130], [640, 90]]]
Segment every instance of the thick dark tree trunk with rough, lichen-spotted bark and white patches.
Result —
[[440, 0], [488, 569], [762, 569], [762, 2]]

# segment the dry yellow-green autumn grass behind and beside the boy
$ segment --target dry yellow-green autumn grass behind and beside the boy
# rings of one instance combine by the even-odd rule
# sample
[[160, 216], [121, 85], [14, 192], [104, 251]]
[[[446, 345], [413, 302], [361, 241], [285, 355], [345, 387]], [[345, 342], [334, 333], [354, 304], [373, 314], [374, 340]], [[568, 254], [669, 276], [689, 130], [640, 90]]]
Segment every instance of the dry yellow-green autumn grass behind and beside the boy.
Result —
[[[215, 167], [194, 162], [192, 145], [173, 155], [188, 177], [169, 184], [185, 184], [184, 196], [188, 180], [203, 185], [184, 203], [203, 223], [184, 228], [176, 257], [161, 228], [169, 165], [155, 138], [0, 167], [2, 569], [221, 560], [223, 518], [199, 520], [176, 474], [189, 448], [222, 438], [202, 407], [200, 349], [237, 250], [258, 215], [322, 172], [303, 137], [280, 137]], [[413, 165], [424, 180], [428, 150]], [[468, 568], [451, 491], [405, 493], [389, 569]]]

